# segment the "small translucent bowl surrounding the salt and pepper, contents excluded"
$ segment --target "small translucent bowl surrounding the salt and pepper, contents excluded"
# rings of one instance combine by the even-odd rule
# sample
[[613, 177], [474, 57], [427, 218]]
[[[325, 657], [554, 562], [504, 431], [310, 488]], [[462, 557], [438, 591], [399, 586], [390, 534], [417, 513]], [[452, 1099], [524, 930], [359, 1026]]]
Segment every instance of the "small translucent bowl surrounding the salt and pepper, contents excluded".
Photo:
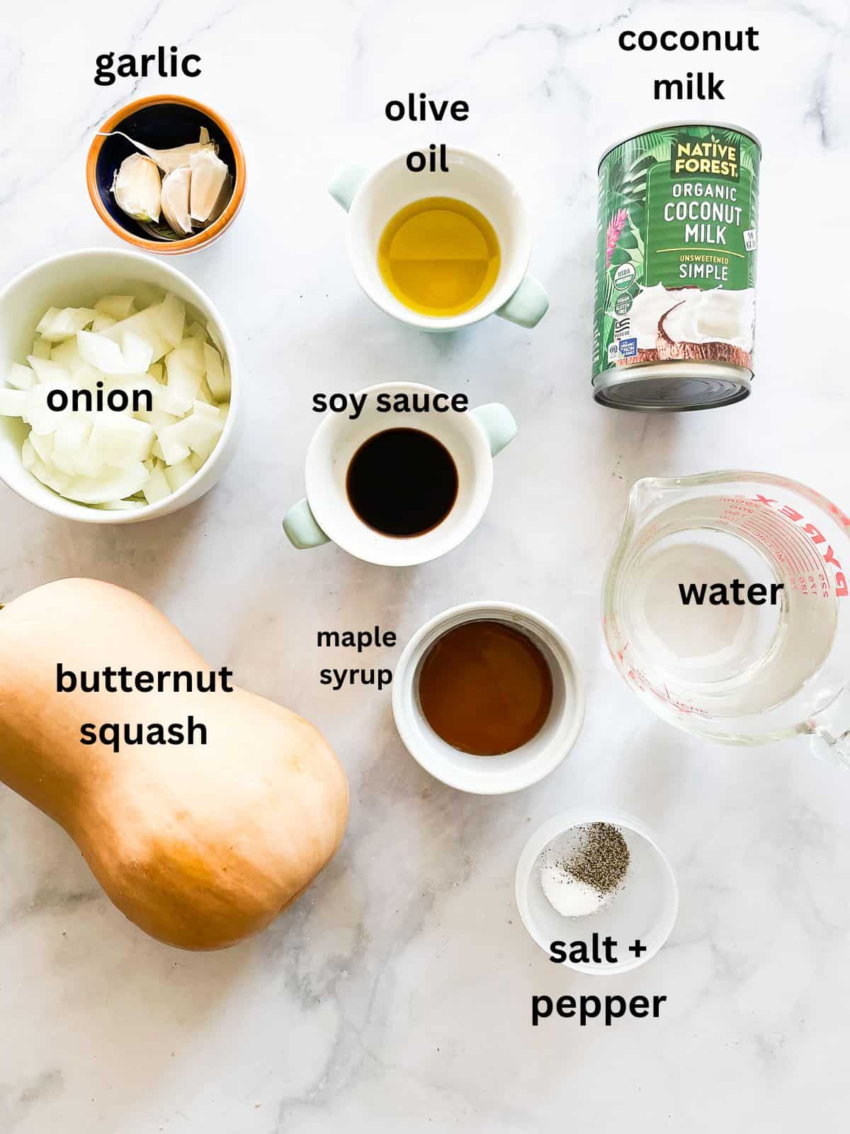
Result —
[[[541, 855], [564, 831], [585, 823], [611, 823], [629, 847], [629, 869], [609, 905], [586, 917], [563, 917], [552, 907], [541, 886]], [[618, 963], [564, 960], [567, 968], [596, 976], [612, 976], [639, 968], [655, 956], [672, 932], [679, 912], [679, 887], [666, 855], [646, 823], [611, 809], [564, 811], [538, 828], [525, 845], [517, 865], [517, 907], [522, 924], [544, 950], [553, 941], [587, 941], [593, 933], [610, 934], [618, 942]], [[635, 956], [628, 945], [639, 940], [646, 951]]]

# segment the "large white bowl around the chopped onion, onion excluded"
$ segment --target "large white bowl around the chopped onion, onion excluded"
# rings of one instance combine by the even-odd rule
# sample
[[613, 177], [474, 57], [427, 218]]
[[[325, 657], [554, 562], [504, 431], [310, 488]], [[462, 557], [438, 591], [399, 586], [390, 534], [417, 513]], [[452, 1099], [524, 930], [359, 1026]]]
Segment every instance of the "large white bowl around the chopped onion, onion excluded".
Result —
[[138, 294], [141, 289], [172, 291], [218, 331], [230, 363], [230, 413], [219, 443], [190, 481], [177, 492], [128, 511], [107, 511], [65, 500], [45, 488], [20, 460], [20, 446], [29, 426], [17, 417], [0, 417], [0, 479], [18, 496], [53, 516], [84, 524], [135, 524], [168, 516], [207, 492], [224, 472], [236, 447], [239, 375], [230, 332], [207, 296], [182, 272], [153, 256], [124, 248], [82, 248], [66, 252], [17, 276], [0, 291], [0, 376], [32, 350], [35, 325], [48, 307], [84, 307], [102, 295]]

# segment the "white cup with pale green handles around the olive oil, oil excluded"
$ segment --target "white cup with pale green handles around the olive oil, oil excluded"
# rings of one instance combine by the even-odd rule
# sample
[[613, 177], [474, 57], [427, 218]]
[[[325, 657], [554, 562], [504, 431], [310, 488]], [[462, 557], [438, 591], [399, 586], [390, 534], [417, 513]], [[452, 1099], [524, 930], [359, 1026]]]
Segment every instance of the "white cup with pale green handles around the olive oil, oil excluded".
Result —
[[[348, 212], [348, 256], [357, 282], [388, 315], [423, 331], [452, 331], [501, 315], [520, 327], [536, 327], [549, 310], [549, 296], [528, 274], [532, 230], [516, 185], [501, 169], [470, 150], [447, 146], [448, 172], [411, 172], [399, 154], [368, 171], [351, 164], [331, 181], [329, 192]], [[454, 197], [483, 213], [495, 229], [499, 274], [477, 306], [459, 315], [425, 315], [407, 307], [384, 282], [377, 251], [381, 234], [399, 210], [425, 197]]]

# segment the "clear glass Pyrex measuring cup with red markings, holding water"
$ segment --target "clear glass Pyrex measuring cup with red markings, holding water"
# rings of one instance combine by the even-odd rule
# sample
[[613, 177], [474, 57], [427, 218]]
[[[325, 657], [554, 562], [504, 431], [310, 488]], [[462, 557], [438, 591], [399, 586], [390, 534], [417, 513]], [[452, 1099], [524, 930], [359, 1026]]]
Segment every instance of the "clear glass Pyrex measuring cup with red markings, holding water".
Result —
[[850, 518], [796, 481], [640, 480], [603, 582], [605, 640], [670, 723], [724, 744], [809, 735], [850, 768], [848, 577]]

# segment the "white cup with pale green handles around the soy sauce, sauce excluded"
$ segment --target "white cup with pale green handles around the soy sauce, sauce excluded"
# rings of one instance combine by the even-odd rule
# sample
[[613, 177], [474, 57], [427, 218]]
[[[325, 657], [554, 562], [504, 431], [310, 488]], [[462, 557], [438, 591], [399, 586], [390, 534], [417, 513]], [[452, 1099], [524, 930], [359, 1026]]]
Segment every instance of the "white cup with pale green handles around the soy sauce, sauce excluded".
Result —
[[[381, 409], [379, 395], [388, 395], [391, 406], [396, 395], [414, 397], [433, 407], [434, 396], [445, 405], [447, 395], [433, 387], [414, 382], [386, 382], [360, 390], [366, 395], [360, 414], [329, 411], [307, 450], [305, 481], [307, 496], [294, 505], [283, 518], [290, 543], [299, 550], [333, 541], [345, 551], [367, 562], [389, 567], [409, 567], [428, 562], [451, 551], [475, 528], [484, 515], [493, 490], [493, 457], [517, 433], [511, 412], [499, 403], [464, 412], [457, 409], [410, 413]], [[388, 399], [383, 399], [384, 405]], [[413, 429], [430, 433], [448, 449], [457, 471], [458, 490], [444, 518], [418, 535], [386, 535], [371, 527], [354, 509], [347, 489], [348, 468], [358, 449], [376, 433], [391, 429]], [[388, 468], [392, 476], [392, 468]]]

